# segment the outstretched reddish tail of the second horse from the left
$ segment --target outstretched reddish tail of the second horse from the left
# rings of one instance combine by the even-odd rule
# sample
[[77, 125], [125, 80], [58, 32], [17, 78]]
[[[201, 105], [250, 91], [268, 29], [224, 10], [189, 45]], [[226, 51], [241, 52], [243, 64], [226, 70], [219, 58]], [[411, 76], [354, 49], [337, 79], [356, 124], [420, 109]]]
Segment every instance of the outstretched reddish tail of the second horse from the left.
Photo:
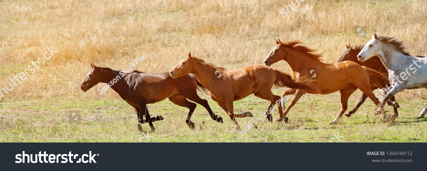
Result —
[[276, 68], [272, 68], [274, 73], [276, 74], [276, 81], [274, 85], [279, 87], [289, 87], [295, 89], [302, 90], [311, 90], [316, 93], [319, 93], [319, 89], [317, 88], [316, 80], [308, 79], [307, 77], [299, 77], [296, 79], [292, 79], [290, 74], [287, 74], [283, 71], [280, 71]]

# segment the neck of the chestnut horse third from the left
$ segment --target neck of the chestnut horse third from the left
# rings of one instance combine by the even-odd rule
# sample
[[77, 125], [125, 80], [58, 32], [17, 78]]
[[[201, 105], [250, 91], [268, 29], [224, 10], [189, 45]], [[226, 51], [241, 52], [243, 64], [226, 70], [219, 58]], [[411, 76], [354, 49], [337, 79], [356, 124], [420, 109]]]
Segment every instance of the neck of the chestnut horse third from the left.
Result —
[[311, 59], [307, 54], [299, 52], [298, 50], [291, 50], [292, 55], [287, 56], [286, 62], [288, 62], [292, 71], [304, 71], [310, 65], [322, 65], [325, 64], [317, 59]]

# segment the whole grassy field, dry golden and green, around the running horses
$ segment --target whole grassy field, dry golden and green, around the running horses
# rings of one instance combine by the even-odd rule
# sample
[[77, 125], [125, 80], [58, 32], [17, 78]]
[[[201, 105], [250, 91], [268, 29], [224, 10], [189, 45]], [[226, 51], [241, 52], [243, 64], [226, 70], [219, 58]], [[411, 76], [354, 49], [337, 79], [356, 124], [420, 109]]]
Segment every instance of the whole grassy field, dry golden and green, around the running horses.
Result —
[[[374, 32], [403, 40], [411, 55], [427, 53], [426, 1], [306, 0], [283, 18], [280, 11], [291, 2], [0, 0], [0, 88], [32, 61], [49, 56], [47, 47], [58, 51], [13, 90], [0, 91], [5, 95], [0, 94], [0, 142], [139, 142], [135, 111], [117, 93], [98, 95], [103, 84], [80, 90], [90, 62], [121, 70], [146, 54], [136, 69], [162, 73], [191, 52], [228, 69], [242, 68], [262, 64], [275, 38], [300, 40], [323, 53], [324, 62], [336, 62], [345, 44], [365, 44]], [[366, 38], [355, 36], [355, 26], [366, 27]], [[273, 67], [290, 71], [284, 61]], [[275, 94], [284, 90], [273, 89]], [[378, 123], [367, 100], [351, 118], [327, 126], [339, 112], [339, 93], [306, 94], [290, 111], [288, 124], [265, 120], [243, 136], [232, 130], [216, 103], [200, 95], [224, 118], [223, 124], [210, 120], [199, 105], [192, 119], [196, 130], [190, 130], [184, 122], [187, 109], [164, 100], [149, 105], [152, 115], [165, 118], [154, 123], [150, 142], [329, 142], [338, 133], [345, 137], [341, 142], [427, 141], [426, 118], [415, 119], [427, 104], [426, 89], [398, 93], [401, 115], [395, 123]], [[351, 96], [349, 109], [359, 95]], [[251, 95], [234, 106], [254, 114], [237, 120], [244, 129], [268, 103]], [[73, 110], [81, 111], [82, 121], [67, 120]]]

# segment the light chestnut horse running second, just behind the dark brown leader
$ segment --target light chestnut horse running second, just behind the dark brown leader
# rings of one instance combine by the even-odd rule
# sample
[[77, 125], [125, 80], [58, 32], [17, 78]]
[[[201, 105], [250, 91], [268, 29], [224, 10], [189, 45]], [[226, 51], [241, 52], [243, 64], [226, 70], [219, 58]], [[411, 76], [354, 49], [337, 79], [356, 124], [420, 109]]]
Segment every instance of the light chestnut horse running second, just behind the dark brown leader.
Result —
[[234, 122], [234, 129], [239, 128], [235, 118], [252, 117], [252, 114], [250, 112], [234, 114], [233, 101], [243, 99], [250, 94], [269, 100], [271, 102], [269, 109], [265, 115], [263, 114], [263, 117], [272, 122], [271, 111], [276, 103], [278, 104], [279, 113], [283, 114], [280, 96], [271, 92], [273, 85], [308, 89], [313, 92], [318, 91], [315, 88], [314, 79], [301, 78], [292, 80], [290, 74], [264, 65], [252, 65], [234, 70], [216, 68], [211, 63], [191, 56], [191, 53], [188, 53], [188, 57], [179, 62], [169, 72], [172, 78], [181, 77], [189, 73], [194, 74], [197, 80], [208, 89], [208, 94], [212, 100], [216, 101]]

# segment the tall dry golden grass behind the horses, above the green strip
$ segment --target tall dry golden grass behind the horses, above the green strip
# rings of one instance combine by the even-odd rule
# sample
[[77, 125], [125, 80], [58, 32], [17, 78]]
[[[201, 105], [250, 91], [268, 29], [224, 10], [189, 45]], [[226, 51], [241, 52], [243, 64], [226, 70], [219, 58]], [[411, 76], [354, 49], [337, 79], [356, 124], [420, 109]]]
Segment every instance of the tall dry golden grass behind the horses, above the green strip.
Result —
[[[137, 70], [167, 72], [188, 52], [219, 66], [261, 64], [275, 45], [301, 40], [336, 62], [345, 44], [365, 44], [373, 32], [404, 40], [412, 55], [427, 52], [427, 3], [420, 0], [311, 1], [287, 18], [279, 11], [290, 0], [22, 0], [0, 2], [0, 86], [56, 44], [57, 55], [1, 101], [120, 98], [97, 95], [97, 85], [79, 89], [90, 62], [123, 69], [137, 56], [151, 55]], [[292, 1], [295, 2], [295, 1]], [[366, 26], [357, 38], [354, 26]], [[72, 32], [72, 29], [74, 32]], [[170, 35], [167, 28], [171, 28]], [[265, 32], [262, 32], [265, 28]], [[74, 35], [78, 32], [77, 35]], [[289, 71], [286, 62], [275, 65]], [[425, 98], [426, 91], [398, 94]]]

